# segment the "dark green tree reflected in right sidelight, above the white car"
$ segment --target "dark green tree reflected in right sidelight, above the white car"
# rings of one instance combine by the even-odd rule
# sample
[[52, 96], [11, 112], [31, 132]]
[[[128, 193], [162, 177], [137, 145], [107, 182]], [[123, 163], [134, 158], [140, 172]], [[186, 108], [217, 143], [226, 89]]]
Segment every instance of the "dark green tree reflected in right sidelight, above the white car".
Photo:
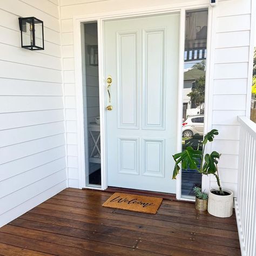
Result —
[[196, 79], [195, 86], [187, 96], [197, 107], [201, 107], [205, 103], [205, 76]]

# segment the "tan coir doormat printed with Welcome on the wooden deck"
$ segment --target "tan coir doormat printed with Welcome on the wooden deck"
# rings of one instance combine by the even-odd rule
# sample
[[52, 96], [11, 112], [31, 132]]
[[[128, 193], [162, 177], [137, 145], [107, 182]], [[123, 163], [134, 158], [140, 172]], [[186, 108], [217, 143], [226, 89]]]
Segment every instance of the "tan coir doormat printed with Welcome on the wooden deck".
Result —
[[156, 214], [163, 198], [114, 193], [102, 206]]

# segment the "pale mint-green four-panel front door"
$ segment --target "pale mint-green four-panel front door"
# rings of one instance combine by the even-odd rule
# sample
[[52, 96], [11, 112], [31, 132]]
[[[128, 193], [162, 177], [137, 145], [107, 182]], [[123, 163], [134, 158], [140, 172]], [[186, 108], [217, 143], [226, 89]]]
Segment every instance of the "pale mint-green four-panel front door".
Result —
[[176, 192], [179, 14], [105, 22], [109, 186]]

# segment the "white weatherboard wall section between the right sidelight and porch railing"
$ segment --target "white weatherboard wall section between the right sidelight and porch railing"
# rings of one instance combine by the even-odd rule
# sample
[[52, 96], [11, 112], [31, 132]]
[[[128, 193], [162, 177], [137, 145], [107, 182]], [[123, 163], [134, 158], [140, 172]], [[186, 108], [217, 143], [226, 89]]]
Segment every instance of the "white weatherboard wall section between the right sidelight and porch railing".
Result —
[[[239, 124], [246, 114], [246, 93], [251, 29], [251, 1], [221, 1], [215, 9], [212, 127], [220, 135], [212, 150], [222, 153], [222, 186], [237, 193]], [[251, 85], [248, 85], [251, 86]], [[211, 177], [211, 187], [217, 184]]]

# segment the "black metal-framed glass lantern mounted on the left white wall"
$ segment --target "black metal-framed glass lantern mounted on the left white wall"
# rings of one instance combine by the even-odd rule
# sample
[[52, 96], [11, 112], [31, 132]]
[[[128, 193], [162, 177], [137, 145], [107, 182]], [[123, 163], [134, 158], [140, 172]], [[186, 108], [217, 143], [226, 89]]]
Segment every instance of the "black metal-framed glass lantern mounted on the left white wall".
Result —
[[22, 48], [44, 50], [44, 24], [35, 17], [19, 18]]

